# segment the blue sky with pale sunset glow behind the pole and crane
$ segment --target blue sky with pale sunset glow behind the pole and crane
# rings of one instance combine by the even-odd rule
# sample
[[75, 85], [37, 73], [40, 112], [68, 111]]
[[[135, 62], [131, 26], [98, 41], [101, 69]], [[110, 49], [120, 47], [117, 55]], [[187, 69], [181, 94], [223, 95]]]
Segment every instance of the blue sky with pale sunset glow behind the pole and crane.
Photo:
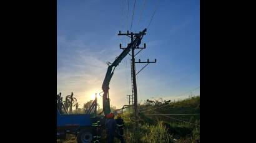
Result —
[[[135, 61], [156, 58], [157, 63], [136, 77], [138, 102], [200, 95], [199, 0], [137, 0], [135, 8], [134, 0], [57, 0], [57, 93], [73, 92], [80, 106], [97, 93], [102, 108], [99, 93], [106, 62], [114, 62], [122, 52], [119, 44], [126, 47], [129, 42], [117, 35], [119, 30], [139, 32], [146, 27], [142, 44], [147, 47]], [[129, 104], [130, 58], [122, 60], [111, 80], [109, 97], [117, 108]], [[144, 65], [136, 63], [136, 71]]]

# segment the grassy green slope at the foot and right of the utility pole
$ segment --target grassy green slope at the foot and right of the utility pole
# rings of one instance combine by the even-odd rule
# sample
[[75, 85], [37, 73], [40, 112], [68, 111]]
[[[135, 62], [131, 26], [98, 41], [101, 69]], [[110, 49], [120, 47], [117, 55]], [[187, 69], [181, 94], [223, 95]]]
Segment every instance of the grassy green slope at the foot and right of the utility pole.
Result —
[[[185, 122], [176, 121], [169, 116], [147, 116], [145, 114], [200, 114], [200, 96], [190, 97], [181, 101], [173, 101], [169, 106], [154, 109], [146, 113], [140, 113], [140, 142], [200, 142], [200, 127]], [[155, 106], [147, 105], [147, 110], [157, 108], [163, 104]], [[145, 104], [140, 109], [145, 108]], [[129, 119], [124, 114], [124, 119]], [[173, 116], [171, 116], [173, 117]], [[174, 116], [175, 119], [191, 122], [200, 125], [200, 115], [193, 116]], [[133, 122], [129, 122], [129, 127], [133, 126]], [[130, 130], [132, 132], [132, 130]], [[166, 135], [166, 136], [165, 136]], [[130, 135], [129, 137], [134, 137]]]

